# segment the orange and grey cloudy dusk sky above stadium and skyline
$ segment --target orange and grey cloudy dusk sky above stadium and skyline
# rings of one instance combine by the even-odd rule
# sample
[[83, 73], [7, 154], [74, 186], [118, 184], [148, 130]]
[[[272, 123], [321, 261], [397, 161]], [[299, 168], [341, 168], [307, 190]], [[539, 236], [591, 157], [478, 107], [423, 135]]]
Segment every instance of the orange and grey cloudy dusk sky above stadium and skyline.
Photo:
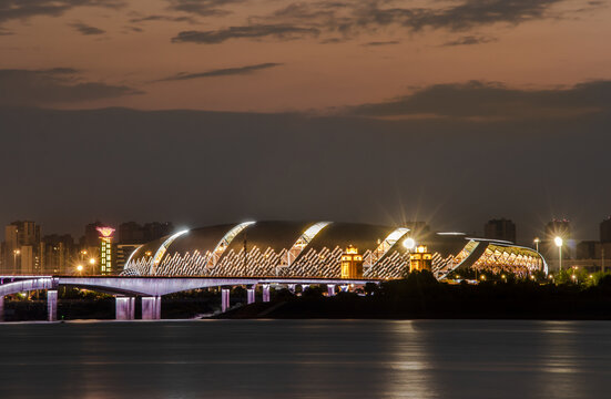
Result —
[[0, 0], [0, 224], [611, 214], [611, 8]]

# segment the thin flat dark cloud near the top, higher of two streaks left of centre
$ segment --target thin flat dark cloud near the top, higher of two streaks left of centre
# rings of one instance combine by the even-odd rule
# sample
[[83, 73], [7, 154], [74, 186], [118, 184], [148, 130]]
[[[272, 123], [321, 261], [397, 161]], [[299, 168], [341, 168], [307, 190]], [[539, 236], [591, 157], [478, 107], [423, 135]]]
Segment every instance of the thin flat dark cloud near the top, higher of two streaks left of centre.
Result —
[[281, 40], [298, 39], [317, 35], [316, 28], [299, 28], [284, 24], [252, 24], [245, 27], [231, 27], [213, 31], [184, 31], [172, 38], [175, 43], [216, 44], [230, 39], [261, 39], [273, 37]]

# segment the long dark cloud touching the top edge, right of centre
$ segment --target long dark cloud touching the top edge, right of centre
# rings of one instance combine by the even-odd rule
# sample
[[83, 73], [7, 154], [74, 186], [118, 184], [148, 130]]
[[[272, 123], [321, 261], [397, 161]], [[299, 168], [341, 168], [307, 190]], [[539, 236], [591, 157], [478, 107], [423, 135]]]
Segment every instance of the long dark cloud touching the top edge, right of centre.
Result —
[[[409, 31], [445, 29], [466, 31], [493, 23], [518, 25], [547, 18], [560, 18], [554, 4], [566, 0], [458, 0], [450, 6], [431, 2], [431, 7], [400, 7], [404, 2], [358, 0], [348, 2], [296, 2], [251, 22], [316, 29], [323, 33], [342, 33], [354, 38], [375, 33], [387, 27]], [[467, 43], [465, 43], [467, 44]]]

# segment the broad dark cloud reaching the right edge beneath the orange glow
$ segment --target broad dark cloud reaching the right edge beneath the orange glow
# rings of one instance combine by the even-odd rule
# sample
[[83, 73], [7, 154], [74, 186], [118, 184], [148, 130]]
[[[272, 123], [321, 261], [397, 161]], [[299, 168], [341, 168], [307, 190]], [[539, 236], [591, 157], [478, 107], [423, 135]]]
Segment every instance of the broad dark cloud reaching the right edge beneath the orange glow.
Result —
[[459, 119], [542, 119], [611, 110], [611, 81], [568, 89], [520, 90], [500, 83], [471, 81], [436, 84], [393, 101], [350, 109], [366, 116], [429, 116]]

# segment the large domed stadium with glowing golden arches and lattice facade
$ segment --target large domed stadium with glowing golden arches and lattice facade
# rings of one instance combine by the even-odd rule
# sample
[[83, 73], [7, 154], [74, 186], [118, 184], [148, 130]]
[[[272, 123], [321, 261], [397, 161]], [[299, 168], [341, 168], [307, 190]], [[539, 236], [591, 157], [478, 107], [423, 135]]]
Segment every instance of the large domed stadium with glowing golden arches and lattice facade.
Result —
[[414, 269], [415, 259], [426, 259], [416, 268], [430, 269], [439, 279], [467, 268], [519, 276], [548, 269], [534, 249], [462, 233], [334, 222], [245, 222], [182, 231], [142, 245], [122, 274], [344, 278], [344, 260], [353, 257], [358, 269], [350, 277], [356, 273], [366, 279], [400, 278]]

